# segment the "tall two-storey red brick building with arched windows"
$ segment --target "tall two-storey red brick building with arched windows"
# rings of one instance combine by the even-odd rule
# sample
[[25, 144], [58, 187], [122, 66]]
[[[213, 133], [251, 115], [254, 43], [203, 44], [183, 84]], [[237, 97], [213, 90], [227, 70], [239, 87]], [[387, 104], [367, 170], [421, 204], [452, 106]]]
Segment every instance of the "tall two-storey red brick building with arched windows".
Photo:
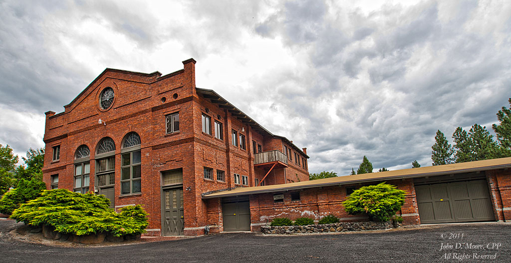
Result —
[[197, 235], [250, 229], [243, 211], [212, 213], [203, 193], [308, 180], [306, 149], [196, 88], [195, 63], [165, 76], [107, 68], [63, 112], [46, 112], [48, 188], [94, 191], [115, 209], [142, 204], [148, 235]]

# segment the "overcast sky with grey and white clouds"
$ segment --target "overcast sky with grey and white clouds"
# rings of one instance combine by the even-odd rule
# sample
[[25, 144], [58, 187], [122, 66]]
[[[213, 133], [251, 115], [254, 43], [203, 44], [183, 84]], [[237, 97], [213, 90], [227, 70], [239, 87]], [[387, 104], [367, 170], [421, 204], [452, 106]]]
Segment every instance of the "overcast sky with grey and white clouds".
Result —
[[197, 87], [307, 147], [311, 173], [431, 165], [437, 129], [509, 106], [508, 1], [174, 2], [0, 1], [0, 144], [43, 147], [44, 112], [106, 67], [188, 58]]

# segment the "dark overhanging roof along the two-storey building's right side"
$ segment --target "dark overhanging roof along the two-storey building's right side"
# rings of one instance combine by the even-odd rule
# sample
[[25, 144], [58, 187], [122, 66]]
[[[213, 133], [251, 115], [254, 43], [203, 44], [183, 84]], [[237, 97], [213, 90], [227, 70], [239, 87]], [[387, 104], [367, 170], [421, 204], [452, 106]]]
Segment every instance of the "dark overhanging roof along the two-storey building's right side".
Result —
[[289, 144], [294, 150], [299, 152], [301, 155], [305, 156], [306, 158], [309, 158], [307, 154], [304, 153], [300, 148], [298, 148], [296, 145], [293, 144], [290, 140], [288, 140], [284, 136], [275, 135], [268, 130], [266, 130], [263, 126], [261, 126], [259, 123], [255, 122], [252, 118], [250, 118], [247, 114], [243, 113], [243, 111], [236, 108], [233, 104], [230, 104], [227, 100], [222, 98], [217, 92], [211, 90], [211, 89], [203, 89], [203, 88], [195, 88], [197, 90], [197, 94], [202, 95], [205, 99], [210, 100], [212, 103], [217, 104], [218, 107], [227, 109], [228, 112], [230, 112], [231, 115], [235, 116], [239, 119], [242, 123], [246, 125], [250, 125], [252, 129], [259, 133], [267, 134], [273, 138], [283, 139], [287, 144]]

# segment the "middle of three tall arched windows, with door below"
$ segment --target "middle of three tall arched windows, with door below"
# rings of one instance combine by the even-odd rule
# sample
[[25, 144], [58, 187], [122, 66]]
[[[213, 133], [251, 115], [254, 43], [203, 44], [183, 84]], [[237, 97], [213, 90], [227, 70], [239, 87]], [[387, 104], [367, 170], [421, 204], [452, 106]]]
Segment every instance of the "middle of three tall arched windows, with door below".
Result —
[[96, 147], [96, 178], [99, 194], [110, 199], [110, 207], [114, 207], [115, 185], [115, 142], [110, 137], [104, 137]]

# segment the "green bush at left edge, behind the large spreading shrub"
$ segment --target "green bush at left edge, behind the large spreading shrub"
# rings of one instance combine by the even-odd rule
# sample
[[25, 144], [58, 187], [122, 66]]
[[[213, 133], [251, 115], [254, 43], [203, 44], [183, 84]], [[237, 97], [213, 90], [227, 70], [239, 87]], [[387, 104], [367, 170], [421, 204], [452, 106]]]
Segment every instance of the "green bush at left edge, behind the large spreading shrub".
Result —
[[46, 185], [37, 178], [30, 181], [19, 179], [17, 187], [5, 193], [0, 199], [0, 213], [11, 214], [21, 204], [39, 197], [43, 189], [46, 189]]

